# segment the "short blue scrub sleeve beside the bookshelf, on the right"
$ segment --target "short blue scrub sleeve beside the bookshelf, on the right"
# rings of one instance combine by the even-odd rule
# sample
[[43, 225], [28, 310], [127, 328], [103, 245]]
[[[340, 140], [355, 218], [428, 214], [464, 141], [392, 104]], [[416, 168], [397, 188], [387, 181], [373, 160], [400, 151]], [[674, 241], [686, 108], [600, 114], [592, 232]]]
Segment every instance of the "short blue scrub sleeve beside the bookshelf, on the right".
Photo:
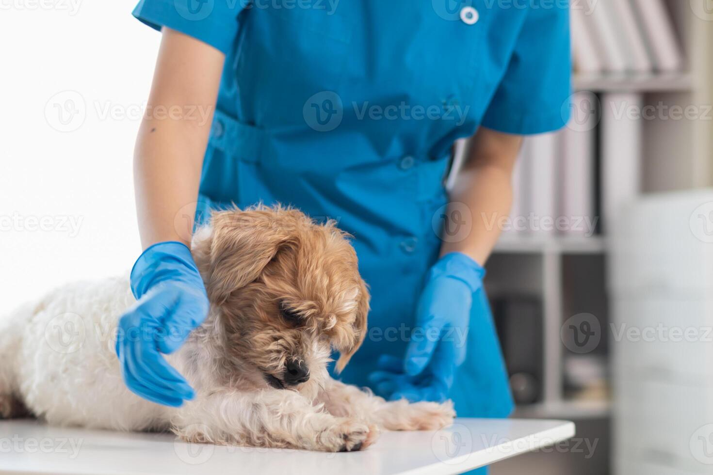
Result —
[[509, 65], [481, 125], [518, 135], [569, 120], [570, 23], [566, 0], [531, 1]]

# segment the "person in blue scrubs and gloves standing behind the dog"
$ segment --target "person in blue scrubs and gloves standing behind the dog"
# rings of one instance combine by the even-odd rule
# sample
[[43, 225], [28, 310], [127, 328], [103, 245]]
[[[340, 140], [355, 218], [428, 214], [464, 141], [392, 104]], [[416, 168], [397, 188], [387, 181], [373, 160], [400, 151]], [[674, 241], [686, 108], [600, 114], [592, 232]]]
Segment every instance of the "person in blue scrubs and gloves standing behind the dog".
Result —
[[[291, 204], [354, 236], [371, 289], [369, 334], [342, 380], [508, 416], [483, 264], [522, 136], [568, 119], [567, 2], [141, 0], [133, 14], [163, 35], [149, 107], [175, 114], [140, 127], [145, 251], [121, 325], [184, 338], [205, 318], [185, 218]], [[447, 191], [453, 142], [471, 136]], [[181, 338], [118, 345], [131, 390], [193, 396], [160, 355]]]

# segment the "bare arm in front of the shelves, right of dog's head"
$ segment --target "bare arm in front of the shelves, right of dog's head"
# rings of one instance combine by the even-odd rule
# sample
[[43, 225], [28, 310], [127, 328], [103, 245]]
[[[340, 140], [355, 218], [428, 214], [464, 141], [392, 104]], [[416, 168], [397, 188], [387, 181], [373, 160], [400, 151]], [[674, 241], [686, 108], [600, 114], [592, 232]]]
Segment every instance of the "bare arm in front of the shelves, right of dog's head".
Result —
[[[444, 240], [441, 255], [462, 252], [485, 265], [500, 235], [499, 221], [510, 213], [513, 167], [520, 145], [522, 137], [519, 135], [484, 127], [478, 130], [449, 197], [448, 219], [451, 222], [447, 224], [451, 226], [449, 229], [455, 242]], [[463, 216], [468, 210], [471, 216]], [[471, 231], [462, 238], [456, 232], [458, 219], [470, 219], [473, 224]]]

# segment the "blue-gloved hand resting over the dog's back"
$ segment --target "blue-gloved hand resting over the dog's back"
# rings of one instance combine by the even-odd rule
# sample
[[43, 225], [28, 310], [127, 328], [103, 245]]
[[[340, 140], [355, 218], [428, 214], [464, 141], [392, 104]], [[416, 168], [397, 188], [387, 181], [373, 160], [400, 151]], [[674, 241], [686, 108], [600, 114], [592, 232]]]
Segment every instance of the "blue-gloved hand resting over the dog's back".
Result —
[[178, 350], [208, 313], [208, 297], [185, 244], [162, 242], [143, 251], [131, 270], [137, 299], [119, 320], [116, 355], [128, 388], [158, 404], [178, 407], [193, 388], [160, 353]]

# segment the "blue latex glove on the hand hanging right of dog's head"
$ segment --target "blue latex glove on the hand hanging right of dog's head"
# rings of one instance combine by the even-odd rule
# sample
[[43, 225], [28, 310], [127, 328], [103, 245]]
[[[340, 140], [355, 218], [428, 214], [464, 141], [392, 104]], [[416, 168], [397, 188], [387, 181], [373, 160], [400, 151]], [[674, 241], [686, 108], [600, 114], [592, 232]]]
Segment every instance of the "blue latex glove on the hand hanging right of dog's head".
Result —
[[[456, 369], [466, 359], [473, 293], [483, 285], [483, 276], [485, 270], [476, 261], [458, 252], [431, 267], [406, 360], [382, 355], [379, 370], [369, 375], [377, 394], [412, 402], [447, 399]], [[489, 315], [486, 309], [483, 313]]]

